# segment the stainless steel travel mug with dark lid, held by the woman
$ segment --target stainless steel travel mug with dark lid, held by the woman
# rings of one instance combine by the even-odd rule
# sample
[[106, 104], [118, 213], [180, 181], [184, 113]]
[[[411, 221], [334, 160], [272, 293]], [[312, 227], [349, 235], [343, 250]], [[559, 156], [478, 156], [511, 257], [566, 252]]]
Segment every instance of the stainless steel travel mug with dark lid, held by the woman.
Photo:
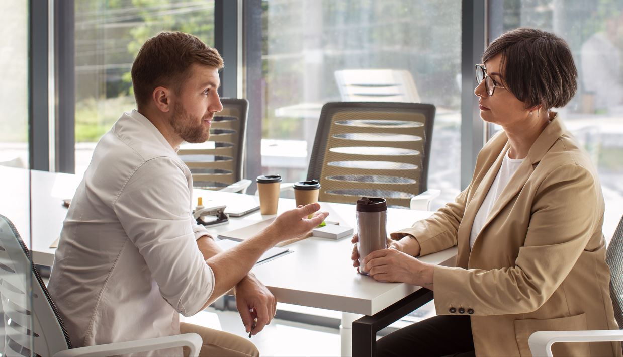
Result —
[[357, 200], [357, 251], [359, 252], [359, 272], [368, 275], [363, 259], [374, 250], [387, 248], [386, 223], [388, 204], [384, 198], [371, 197]]

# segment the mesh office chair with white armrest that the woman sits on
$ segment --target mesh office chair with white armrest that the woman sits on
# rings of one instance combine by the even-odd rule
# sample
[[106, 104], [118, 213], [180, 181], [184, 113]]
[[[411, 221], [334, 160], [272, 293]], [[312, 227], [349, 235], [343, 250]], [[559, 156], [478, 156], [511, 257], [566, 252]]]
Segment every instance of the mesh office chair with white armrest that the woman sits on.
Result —
[[551, 346], [556, 342], [623, 341], [623, 217], [606, 250], [606, 262], [610, 267], [610, 298], [614, 317], [621, 330], [536, 331], [528, 338], [533, 356], [552, 357]]

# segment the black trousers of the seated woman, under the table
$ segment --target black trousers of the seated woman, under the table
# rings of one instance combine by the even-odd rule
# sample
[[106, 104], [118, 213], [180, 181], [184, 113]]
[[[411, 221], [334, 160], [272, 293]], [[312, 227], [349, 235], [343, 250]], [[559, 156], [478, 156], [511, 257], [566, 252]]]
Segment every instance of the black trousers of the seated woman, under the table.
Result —
[[439, 315], [376, 341], [378, 357], [475, 356], [468, 316]]

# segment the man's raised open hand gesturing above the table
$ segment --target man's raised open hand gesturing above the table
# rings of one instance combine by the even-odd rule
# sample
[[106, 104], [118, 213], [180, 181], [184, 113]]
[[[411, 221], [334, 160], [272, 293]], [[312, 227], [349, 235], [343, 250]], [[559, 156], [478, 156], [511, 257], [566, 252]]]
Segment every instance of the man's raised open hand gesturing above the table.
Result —
[[[265, 230], [265, 234], [275, 239], [274, 244], [282, 242], [283, 240], [293, 239], [305, 236], [312, 229], [318, 227], [328, 212], [316, 212], [320, 209], [320, 204], [312, 203], [306, 206], [298, 206], [290, 211], [285, 211], [273, 221], [270, 226]], [[312, 218], [307, 218], [310, 214], [314, 214]]]

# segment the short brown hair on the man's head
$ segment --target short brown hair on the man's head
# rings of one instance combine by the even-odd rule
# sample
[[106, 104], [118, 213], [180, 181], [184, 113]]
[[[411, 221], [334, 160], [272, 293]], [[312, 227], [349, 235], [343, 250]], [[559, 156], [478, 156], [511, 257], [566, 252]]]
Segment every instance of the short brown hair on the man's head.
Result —
[[223, 59], [216, 49], [184, 32], [160, 32], [148, 39], [132, 64], [136, 105], [149, 103], [151, 93], [159, 86], [177, 92], [181, 83], [188, 79], [192, 64], [222, 69]]

